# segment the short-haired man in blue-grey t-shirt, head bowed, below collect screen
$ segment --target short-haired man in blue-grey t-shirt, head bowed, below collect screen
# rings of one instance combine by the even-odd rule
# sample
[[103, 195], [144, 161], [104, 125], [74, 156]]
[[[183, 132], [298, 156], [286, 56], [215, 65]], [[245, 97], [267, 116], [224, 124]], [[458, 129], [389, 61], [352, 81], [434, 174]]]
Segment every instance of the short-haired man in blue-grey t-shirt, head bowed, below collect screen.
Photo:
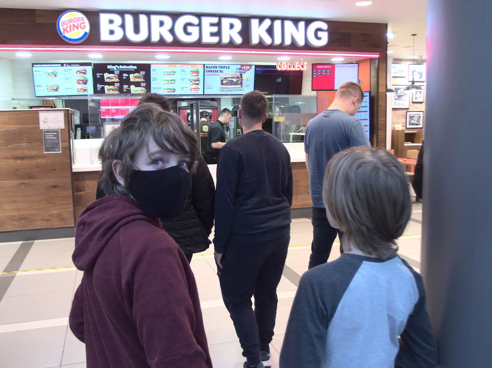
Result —
[[[309, 268], [326, 263], [333, 242], [339, 233], [330, 226], [323, 204], [323, 177], [332, 156], [354, 146], [370, 146], [366, 132], [354, 115], [361, 108], [364, 91], [361, 85], [347, 82], [341, 85], [330, 107], [307, 124], [304, 140], [306, 167], [309, 172], [309, 193], [312, 205], [313, 240]], [[339, 233], [341, 238], [341, 233]], [[340, 247], [340, 252], [342, 252]]]

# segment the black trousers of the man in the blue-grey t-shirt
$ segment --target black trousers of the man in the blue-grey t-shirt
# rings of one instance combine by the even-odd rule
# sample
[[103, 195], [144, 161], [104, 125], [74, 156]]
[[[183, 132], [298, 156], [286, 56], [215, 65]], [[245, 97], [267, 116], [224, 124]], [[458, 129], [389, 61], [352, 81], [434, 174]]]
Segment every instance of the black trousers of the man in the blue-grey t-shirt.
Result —
[[312, 207], [312, 243], [309, 256], [309, 268], [326, 263], [332, 252], [333, 242], [340, 238], [340, 254], [343, 253], [341, 238], [343, 233], [330, 225], [325, 208]]

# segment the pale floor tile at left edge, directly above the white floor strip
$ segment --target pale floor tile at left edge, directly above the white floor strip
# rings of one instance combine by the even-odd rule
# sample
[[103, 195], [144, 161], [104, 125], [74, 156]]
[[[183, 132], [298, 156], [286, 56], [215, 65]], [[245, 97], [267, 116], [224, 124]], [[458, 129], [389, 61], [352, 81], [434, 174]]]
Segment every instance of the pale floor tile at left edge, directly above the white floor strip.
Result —
[[11, 296], [0, 301], [0, 324], [68, 317], [72, 291]]

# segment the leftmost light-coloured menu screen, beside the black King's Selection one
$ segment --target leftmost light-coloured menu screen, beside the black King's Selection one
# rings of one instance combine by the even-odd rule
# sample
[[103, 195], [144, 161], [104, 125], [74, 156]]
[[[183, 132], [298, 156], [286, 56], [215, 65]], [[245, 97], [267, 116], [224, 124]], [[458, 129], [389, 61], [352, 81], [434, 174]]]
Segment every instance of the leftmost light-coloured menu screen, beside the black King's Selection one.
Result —
[[34, 94], [77, 96], [92, 94], [92, 63], [32, 64]]

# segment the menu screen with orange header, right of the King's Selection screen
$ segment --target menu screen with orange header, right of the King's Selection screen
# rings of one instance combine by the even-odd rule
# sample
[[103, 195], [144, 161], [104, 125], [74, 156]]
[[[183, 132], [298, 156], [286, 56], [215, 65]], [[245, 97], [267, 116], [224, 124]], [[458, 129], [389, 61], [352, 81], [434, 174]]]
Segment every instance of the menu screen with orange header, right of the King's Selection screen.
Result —
[[203, 64], [152, 64], [151, 90], [159, 94], [203, 94]]

